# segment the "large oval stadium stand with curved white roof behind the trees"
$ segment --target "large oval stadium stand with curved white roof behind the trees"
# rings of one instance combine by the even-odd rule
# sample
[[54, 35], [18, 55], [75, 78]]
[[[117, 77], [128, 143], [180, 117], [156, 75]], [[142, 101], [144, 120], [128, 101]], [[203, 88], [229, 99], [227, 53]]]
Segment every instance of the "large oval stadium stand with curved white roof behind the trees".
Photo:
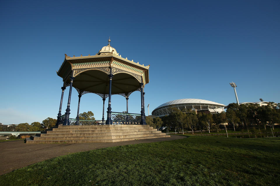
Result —
[[158, 106], [152, 111], [153, 117], [163, 117], [169, 115], [172, 111], [170, 108], [178, 108], [179, 110], [192, 109], [197, 112], [205, 113], [221, 113], [224, 112], [226, 105], [216, 103], [213, 101], [207, 101], [204, 99], [176, 99], [168, 101]]

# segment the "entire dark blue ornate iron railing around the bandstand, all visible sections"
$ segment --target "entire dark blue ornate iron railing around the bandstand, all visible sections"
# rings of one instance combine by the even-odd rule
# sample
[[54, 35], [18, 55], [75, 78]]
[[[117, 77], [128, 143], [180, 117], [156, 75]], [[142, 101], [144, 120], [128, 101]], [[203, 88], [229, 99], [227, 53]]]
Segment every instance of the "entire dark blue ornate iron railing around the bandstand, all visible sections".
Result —
[[[113, 125], [140, 125], [141, 114], [123, 113], [123, 112], [111, 112], [111, 119]], [[65, 120], [65, 114], [60, 116], [57, 120], [57, 125], [63, 125]], [[70, 125], [102, 125], [102, 120], [87, 120], [87, 119], [73, 119], [69, 118]]]

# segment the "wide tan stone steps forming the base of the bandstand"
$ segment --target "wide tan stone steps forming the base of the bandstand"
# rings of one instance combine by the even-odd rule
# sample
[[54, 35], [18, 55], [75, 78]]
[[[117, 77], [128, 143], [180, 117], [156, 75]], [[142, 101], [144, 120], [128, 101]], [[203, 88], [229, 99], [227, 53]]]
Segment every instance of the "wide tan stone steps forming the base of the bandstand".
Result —
[[26, 143], [121, 142], [170, 137], [149, 125], [56, 126], [26, 139]]

